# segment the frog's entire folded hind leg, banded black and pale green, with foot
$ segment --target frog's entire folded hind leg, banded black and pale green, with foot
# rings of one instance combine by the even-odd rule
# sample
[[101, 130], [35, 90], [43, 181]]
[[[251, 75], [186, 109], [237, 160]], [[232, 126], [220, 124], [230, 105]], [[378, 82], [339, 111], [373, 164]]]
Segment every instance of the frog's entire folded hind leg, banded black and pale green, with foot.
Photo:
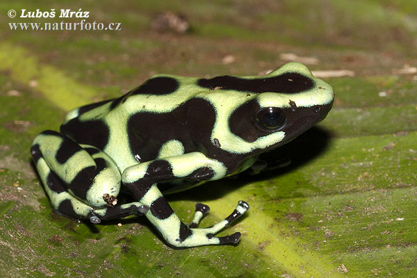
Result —
[[138, 203], [117, 205], [120, 172], [96, 147], [44, 131], [33, 140], [31, 154], [57, 213], [98, 223], [146, 210]]

